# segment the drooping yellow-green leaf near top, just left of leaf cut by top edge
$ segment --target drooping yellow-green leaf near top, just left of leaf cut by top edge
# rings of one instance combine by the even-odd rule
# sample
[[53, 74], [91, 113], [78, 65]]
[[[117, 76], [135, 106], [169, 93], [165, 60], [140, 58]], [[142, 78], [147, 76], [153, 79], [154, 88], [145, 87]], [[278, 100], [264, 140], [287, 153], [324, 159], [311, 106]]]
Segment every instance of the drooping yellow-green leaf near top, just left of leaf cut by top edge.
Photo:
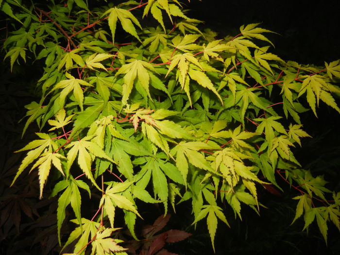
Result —
[[116, 27], [117, 27], [117, 20], [118, 19], [120, 21], [121, 27], [127, 33], [135, 36], [139, 40], [139, 37], [138, 37], [138, 34], [136, 32], [136, 28], [135, 28], [134, 24], [136, 26], [138, 26], [140, 29], [142, 29], [142, 27], [140, 26], [137, 18], [131, 12], [124, 10], [124, 9], [114, 7], [114, 8], [107, 10], [103, 14], [103, 16], [107, 15], [108, 13], [109, 13], [108, 23], [109, 23], [109, 27], [110, 27], [111, 34], [112, 34], [113, 44], [115, 43], [115, 34], [116, 34]]

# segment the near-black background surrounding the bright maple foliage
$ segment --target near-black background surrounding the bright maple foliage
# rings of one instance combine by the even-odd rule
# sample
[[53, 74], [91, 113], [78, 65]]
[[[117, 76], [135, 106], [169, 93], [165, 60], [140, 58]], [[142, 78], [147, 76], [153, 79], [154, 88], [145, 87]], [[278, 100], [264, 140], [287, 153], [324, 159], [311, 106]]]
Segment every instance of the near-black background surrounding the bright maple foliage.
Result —
[[[323, 65], [323, 61], [330, 62], [340, 58], [340, 15], [337, 1], [324, 1], [316, 4], [305, 0], [203, 0], [201, 2], [191, 0], [190, 3], [184, 2], [191, 9], [188, 16], [204, 21], [201, 28], [215, 30], [220, 38], [229, 34], [238, 34], [238, 29], [243, 24], [262, 22], [260, 27], [279, 34], [268, 34], [268, 38], [275, 45], [272, 52], [284, 60]], [[6, 64], [2, 61], [0, 63], [0, 196], [7, 192], [10, 184], [8, 176], [15, 173], [18, 162], [22, 159], [22, 155], [13, 154], [13, 151], [22, 148], [27, 141], [32, 140], [30, 135], [26, 135], [25, 140], [20, 141], [23, 123], [18, 123], [18, 120], [26, 114], [24, 105], [35, 100], [34, 90], [31, 88], [34, 87], [34, 81], [39, 78], [34, 78], [34, 66], [28, 69], [17, 69], [16, 74], [11, 74], [8, 65], [8, 60]], [[310, 112], [303, 116], [304, 128], [313, 136], [313, 139], [303, 139], [302, 149], [297, 148], [295, 153], [304, 168], [310, 169], [314, 175], [324, 174], [325, 179], [329, 181], [329, 187], [339, 191], [339, 114], [323, 104], [318, 109], [318, 114], [318, 119]], [[37, 130], [32, 126], [27, 134], [33, 132]], [[31, 177], [24, 181], [34, 184], [34, 178], [31, 174]], [[217, 255], [340, 254], [339, 231], [333, 225], [328, 224], [328, 246], [324, 244], [316, 224], [312, 224], [308, 234], [301, 232], [302, 220], [289, 226], [294, 218], [296, 206], [296, 202], [292, 201], [291, 197], [298, 194], [289, 190], [284, 183], [280, 185], [285, 189], [280, 197], [272, 195], [265, 189], [259, 190], [260, 201], [268, 207], [268, 209], [261, 209], [261, 217], [258, 217], [251, 209], [242, 207], [243, 221], [233, 221], [234, 215], [230, 211], [227, 218], [230, 219], [231, 229], [222, 225], [221, 221], [218, 223], [215, 241]], [[10, 195], [12, 195], [11, 192]], [[13, 193], [16, 195], [15, 191]], [[3, 197], [0, 202], [3, 202]], [[147, 213], [148, 208], [145, 210]], [[18, 210], [13, 211], [18, 212]], [[173, 252], [187, 255], [212, 254], [210, 238], [206, 234], [206, 222], [199, 222], [196, 229], [190, 226], [192, 219], [188, 216], [190, 212], [188, 204], [180, 204], [177, 212], [176, 215], [173, 214], [172, 225], [169, 228], [180, 229], [183, 228], [183, 224], [187, 223], [186, 230], [193, 233], [193, 237], [181, 244], [174, 244], [170, 250], [172, 248]], [[186, 213], [184, 215], [181, 212]], [[4, 217], [5, 213], [8, 212], [1, 212], [1, 221], [7, 220]], [[23, 212], [21, 214], [22, 222], [30, 221]], [[152, 223], [158, 216], [150, 214], [146, 217], [146, 221], [149, 217], [148, 223]], [[9, 216], [8, 221], [11, 219], [15, 219], [13, 214]], [[42, 224], [42, 229], [47, 229], [53, 226], [54, 221], [55, 215], [52, 215], [51, 219], [41, 218], [41, 222], [36, 222], [36, 224]], [[25, 228], [23, 230], [28, 231]], [[51, 228], [50, 232], [42, 233], [42, 236], [36, 239], [42, 239], [43, 235], [51, 233], [55, 234], [56, 229]], [[4, 223], [0, 228], [0, 241], [5, 246], [11, 244], [11, 240], [3, 239], [8, 237], [8, 234], [16, 237], [16, 230], [11, 232]], [[25, 232], [21, 232], [21, 235], [25, 235]], [[16, 245], [30, 247], [32, 245], [30, 241], [32, 242], [32, 237], [22, 238], [22, 242]], [[38, 243], [38, 240], [34, 242]], [[46, 247], [49, 243], [44, 245]], [[0, 253], [1, 251], [4, 250], [0, 248]], [[29, 248], [26, 254], [30, 254]]]

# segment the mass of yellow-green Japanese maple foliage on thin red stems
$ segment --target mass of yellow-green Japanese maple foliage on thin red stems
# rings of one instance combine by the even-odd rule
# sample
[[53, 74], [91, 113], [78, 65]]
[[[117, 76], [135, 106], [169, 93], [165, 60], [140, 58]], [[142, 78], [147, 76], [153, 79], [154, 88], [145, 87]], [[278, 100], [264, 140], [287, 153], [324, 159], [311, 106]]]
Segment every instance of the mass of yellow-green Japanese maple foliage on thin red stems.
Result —
[[[26, 156], [11, 185], [29, 169], [40, 199], [52, 187], [58, 241], [71, 254], [126, 254], [112, 233], [123, 217], [137, 239], [140, 201], [163, 204], [165, 217], [169, 205], [190, 201], [192, 224], [206, 221], [215, 250], [225, 212], [242, 219], [247, 205], [259, 213], [259, 187], [282, 190], [278, 178], [299, 192], [292, 222], [304, 216], [305, 230], [315, 221], [327, 241], [328, 222], [340, 229], [340, 193], [302, 169], [291, 148], [309, 136], [302, 113], [317, 116], [319, 103], [340, 113], [339, 60], [323, 68], [285, 62], [269, 52], [272, 31], [259, 24], [216, 39], [182, 7], [0, 1], [13, 23], [3, 43], [11, 70], [44, 64], [22, 136], [32, 123], [40, 131], [17, 151]], [[143, 24], [151, 16], [159, 25]], [[100, 199], [84, 218], [87, 196]], [[66, 236], [70, 209], [76, 227]]]

